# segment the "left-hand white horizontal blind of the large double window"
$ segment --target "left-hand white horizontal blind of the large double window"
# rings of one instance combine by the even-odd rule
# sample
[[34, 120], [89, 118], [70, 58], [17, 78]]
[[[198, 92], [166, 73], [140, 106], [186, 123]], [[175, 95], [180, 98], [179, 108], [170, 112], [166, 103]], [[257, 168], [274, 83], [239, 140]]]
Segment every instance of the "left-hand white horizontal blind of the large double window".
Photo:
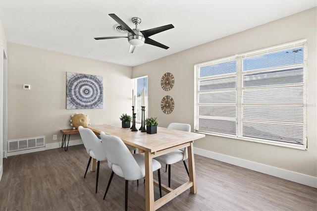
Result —
[[196, 65], [197, 131], [236, 135], [236, 57]]

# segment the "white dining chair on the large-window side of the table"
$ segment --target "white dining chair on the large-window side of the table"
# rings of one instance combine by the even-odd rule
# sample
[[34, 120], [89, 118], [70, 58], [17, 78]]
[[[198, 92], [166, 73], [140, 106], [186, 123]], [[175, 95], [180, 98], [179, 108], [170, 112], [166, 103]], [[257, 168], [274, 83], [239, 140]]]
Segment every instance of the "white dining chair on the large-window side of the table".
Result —
[[[183, 124], [183, 123], [176, 123], [176, 122], [170, 123], [167, 126], [167, 128], [174, 129], [174, 130], [182, 130], [182, 131], [187, 131], [187, 132], [190, 132], [190, 130], [191, 130], [190, 124]], [[176, 151], [173, 151], [171, 153], [167, 153], [165, 155], [161, 155], [159, 157], [156, 157], [156, 159], [158, 161], [166, 164], [165, 169], [167, 168], [167, 165], [168, 165], [168, 187], [170, 187], [170, 173], [171, 173], [170, 172], [170, 165], [171, 164], [174, 164], [178, 161], [183, 160], [185, 169], [186, 169], [187, 174], [189, 176], [188, 168], [187, 168], [187, 165], [185, 162], [185, 160], [187, 158], [188, 158], [187, 147], [183, 150], [176, 150]]]

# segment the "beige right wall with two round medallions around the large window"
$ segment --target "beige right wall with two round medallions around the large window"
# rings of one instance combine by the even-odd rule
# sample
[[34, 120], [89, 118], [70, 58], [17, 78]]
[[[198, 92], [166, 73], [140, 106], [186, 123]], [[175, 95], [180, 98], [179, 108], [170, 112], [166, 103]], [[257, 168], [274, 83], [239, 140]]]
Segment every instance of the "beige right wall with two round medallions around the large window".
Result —
[[[157, 116], [159, 118], [159, 126], [165, 127], [170, 122], [187, 122], [193, 127], [194, 64], [307, 38], [308, 151], [211, 135], [206, 135], [206, 138], [196, 141], [194, 147], [316, 177], [316, 16], [317, 7], [133, 67], [133, 78], [143, 75], [148, 75], [149, 77], [149, 116]], [[197, 33], [197, 39], [199, 39], [199, 33], [203, 32]], [[171, 72], [175, 78], [175, 85], [168, 92], [160, 88], [160, 79], [165, 72]], [[171, 114], [164, 114], [160, 109], [160, 101], [165, 95], [170, 95], [175, 102], [175, 108]]]

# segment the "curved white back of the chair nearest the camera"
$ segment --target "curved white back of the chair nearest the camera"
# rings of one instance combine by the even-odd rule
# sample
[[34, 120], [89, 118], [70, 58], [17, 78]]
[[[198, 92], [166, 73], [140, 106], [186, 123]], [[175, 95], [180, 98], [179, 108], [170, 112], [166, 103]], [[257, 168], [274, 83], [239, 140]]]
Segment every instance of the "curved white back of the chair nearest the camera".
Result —
[[100, 136], [108, 163], [111, 163], [109, 167], [114, 173], [117, 174], [115, 170], [119, 166], [125, 180], [137, 180], [144, 177], [144, 173], [137, 161], [119, 137], [106, 135], [104, 132], [101, 132]]

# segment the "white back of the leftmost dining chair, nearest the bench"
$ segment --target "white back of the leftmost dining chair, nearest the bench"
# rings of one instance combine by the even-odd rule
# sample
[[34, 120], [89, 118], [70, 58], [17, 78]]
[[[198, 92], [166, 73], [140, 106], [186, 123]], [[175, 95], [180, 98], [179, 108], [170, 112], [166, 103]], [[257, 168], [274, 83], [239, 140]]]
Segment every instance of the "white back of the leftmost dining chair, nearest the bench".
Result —
[[96, 134], [91, 129], [84, 128], [83, 126], [79, 126], [78, 131], [87, 153], [97, 160], [106, 160], [106, 153], [103, 149], [103, 145]]

